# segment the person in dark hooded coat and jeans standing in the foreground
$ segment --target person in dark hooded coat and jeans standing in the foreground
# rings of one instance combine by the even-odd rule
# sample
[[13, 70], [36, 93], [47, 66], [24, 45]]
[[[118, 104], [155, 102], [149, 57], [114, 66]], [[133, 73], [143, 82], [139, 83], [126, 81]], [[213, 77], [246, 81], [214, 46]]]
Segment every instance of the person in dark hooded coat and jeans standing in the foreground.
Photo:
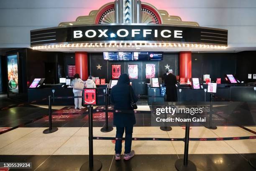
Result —
[[[114, 110], [133, 110], [131, 107], [131, 97], [133, 101], [137, 102], [138, 98], [130, 86], [130, 79], [127, 74], [121, 74], [118, 83], [112, 87], [110, 93], [110, 100], [114, 104]], [[131, 151], [133, 125], [136, 123], [134, 112], [129, 113], [115, 113], [114, 112], [114, 125], [116, 126], [115, 141], [115, 160], [120, 160], [122, 151], [122, 138], [125, 131], [125, 155], [124, 159], [129, 160], [134, 156], [134, 151]]]

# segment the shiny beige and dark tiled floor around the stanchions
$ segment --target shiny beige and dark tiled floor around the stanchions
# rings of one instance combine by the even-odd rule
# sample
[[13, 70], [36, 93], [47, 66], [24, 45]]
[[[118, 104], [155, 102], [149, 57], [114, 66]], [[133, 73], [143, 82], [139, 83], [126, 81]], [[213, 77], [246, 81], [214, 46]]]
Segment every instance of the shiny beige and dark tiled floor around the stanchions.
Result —
[[[61, 108], [53, 107], [53, 110]], [[149, 110], [149, 107], [139, 106], [139, 110]], [[12, 126], [12, 119], [29, 120], [32, 116], [47, 114], [47, 107], [15, 107], [8, 115], [6, 111], [0, 112], [1, 120], [10, 122], [1, 125], [0, 129]], [[110, 113], [110, 125], [112, 119]], [[95, 114], [93, 120], [94, 136], [115, 137], [115, 128], [108, 133], [100, 131], [105, 124], [104, 114]], [[136, 115], [136, 121], [133, 137], [184, 138], [184, 128], [172, 127], [172, 131], [165, 132], [159, 127], [151, 127], [150, 116], [146, 114]], [[79, 171], [80, 166], [88, 161], [88, 116], [53, 115], [53, 126], [59, 130], [43, 134], [47, 126], [48, 117], [42, 117], [1, 134], [0, 162], [32, 162], [32, 169], [27, 169], [31, 171]], [[256, 131], [256, 127], [248, 129]], [[191, 127], [190, 130], [190, 138], [239, 136], [254, 134], [239, 127], [218, 127], [217, 130]], [[94, 157], [102, 162], [102, 171], [175, 171], [174, 163], [183, 158], [184, 153], [183, 141], [133, 141], [136, 156], [130, 161], [115, 161], [112, 140], [94, 140], [93, 143]], [[248, 164], [250, 158], [256, 158], [256, 139], [189, 142], [189, 160], [195, 163], [197, 171], [254, 171]]]

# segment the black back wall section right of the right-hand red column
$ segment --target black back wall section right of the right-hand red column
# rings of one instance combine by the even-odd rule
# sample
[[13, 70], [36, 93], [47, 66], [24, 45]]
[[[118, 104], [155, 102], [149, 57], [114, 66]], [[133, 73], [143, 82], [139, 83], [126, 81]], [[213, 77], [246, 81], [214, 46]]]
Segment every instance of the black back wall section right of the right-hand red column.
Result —
[[211, 81], [221, 78], [224, 82], [225, 74], [236, 75], [236, 64], [236, 53], [192, 53], [192, 77], [210, 74]]

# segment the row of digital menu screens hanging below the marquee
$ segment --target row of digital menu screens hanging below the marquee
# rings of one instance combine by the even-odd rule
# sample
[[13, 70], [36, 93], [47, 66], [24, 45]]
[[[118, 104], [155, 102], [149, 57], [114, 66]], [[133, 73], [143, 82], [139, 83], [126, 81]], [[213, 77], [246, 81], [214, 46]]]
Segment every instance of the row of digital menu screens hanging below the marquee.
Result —
[[162, 52], [103, 52], [109, 61], [151, 61], [163, 60]]

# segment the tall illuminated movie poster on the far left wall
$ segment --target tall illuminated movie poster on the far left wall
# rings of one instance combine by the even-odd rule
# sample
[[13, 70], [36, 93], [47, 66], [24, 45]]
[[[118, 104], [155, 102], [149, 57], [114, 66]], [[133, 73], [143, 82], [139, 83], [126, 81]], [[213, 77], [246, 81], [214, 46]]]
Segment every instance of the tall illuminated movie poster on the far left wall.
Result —
[[10, 92], [19, 92], [18, 87], [18, 55], [7, 56], [8, 88]]

